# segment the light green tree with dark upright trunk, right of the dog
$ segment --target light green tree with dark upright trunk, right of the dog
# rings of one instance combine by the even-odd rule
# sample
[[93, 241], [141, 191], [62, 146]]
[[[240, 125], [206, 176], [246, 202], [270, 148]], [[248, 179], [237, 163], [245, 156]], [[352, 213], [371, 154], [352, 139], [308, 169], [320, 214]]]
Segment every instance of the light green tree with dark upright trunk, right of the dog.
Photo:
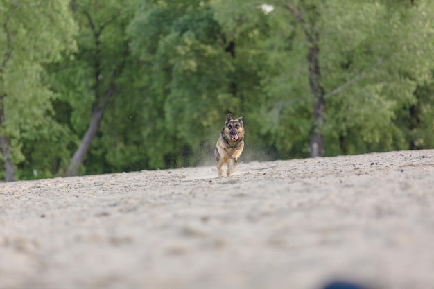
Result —
[[[429, 13], [423, 11], [431, 10], [432, 4], [340, 0], [273, 4], [275, 12], [285, 15], [280, 10], [286, 10], [290, 16], [285, 15], [286, 31], [277, 30], [275, 43], [281, 46], [277, 61], [283, 64], [272, 64], [281, 69], [270, 73], [266, 91], [277, 100], [275, 91], [286, 87], [287, 103], [302, 108], [300, 112], [311, 111], [311, 156], [315, 156], [315, 137], [324, 139], [319, 151], [327, 155], [406, 148], [405, 135], [395, 120], [401, 107], [415, 101], [417, 83], [431, 75], [427, 72], [433, 63], [428, 52], [432, 42], [427, 36], [432, 27]], [[420, 33], [415, 35], [415, 30]], [[282, 40], [288, 42], [286, 46], [279, 44]], [[287, 62], [282, 61], [285, 55]], [[309, 86], [300, 76], [309, 80]], [[311, 109], [305, 106], [309, 102]], [[307, 133], [304, 121], [279, 117], [277, 123], [286, 127], [277, 129], [277, 134], [292, 130], [294, 124]]]

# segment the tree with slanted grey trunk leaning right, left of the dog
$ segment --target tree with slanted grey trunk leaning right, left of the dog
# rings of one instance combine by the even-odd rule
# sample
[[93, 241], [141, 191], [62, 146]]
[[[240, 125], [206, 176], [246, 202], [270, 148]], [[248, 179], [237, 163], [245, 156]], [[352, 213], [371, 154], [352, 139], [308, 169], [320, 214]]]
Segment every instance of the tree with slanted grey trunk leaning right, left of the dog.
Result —
[[[80, 26], [79, 52], [75, 55], [75, 60], [65, 60], [64, 64], [72, 64], [71, 69], [66, 71], [76, 73], [72, 80], [76, 87], [66, 86], [64, 89], [76, 89], [72, 99], [67, 101], [76, 108], [74, 114], [79, 118], [76, 119], [79, 130], [83, 128], [83, 119], [87, 119], [83, 117], [87, 114], [83, 112], [87, 107], [83, 102], [90, 105], [90, 116], [83, 139], [67, 169], [67, 175], [78, 174], [78, 169], [83, 164], [92, 140], [100, 128], [107, 105], [116, 92], [119, 92], [116, 79], [123, 73], [125, 62], [128, 60], [125, 26], [132, 13], [132, 6], [128, 1], [75, 0], [72, 7]], [[63, 76], [69, 77], [64, 74]], [[70, 81], [65, 78], [64, 83]], [[78, 91], [82, 91], [83, 94], [80, 95]], [[67, 94], [66, 91], [62, 92]]]

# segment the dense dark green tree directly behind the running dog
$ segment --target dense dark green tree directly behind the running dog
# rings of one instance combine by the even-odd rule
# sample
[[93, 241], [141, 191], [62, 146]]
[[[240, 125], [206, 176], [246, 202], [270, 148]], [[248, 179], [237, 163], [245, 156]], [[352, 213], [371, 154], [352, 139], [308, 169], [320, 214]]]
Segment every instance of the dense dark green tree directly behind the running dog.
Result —
[[148, 147], [151, 167], [211, 161], [227, 112], [257, 122], [251, 108], [262, 101], [266, 57], [256, 44], [268, 33], [264, 17], [249, 1], [144, 1], [128, 33], [151, 71], [154, 110], [144, 132], [158, 136]]

